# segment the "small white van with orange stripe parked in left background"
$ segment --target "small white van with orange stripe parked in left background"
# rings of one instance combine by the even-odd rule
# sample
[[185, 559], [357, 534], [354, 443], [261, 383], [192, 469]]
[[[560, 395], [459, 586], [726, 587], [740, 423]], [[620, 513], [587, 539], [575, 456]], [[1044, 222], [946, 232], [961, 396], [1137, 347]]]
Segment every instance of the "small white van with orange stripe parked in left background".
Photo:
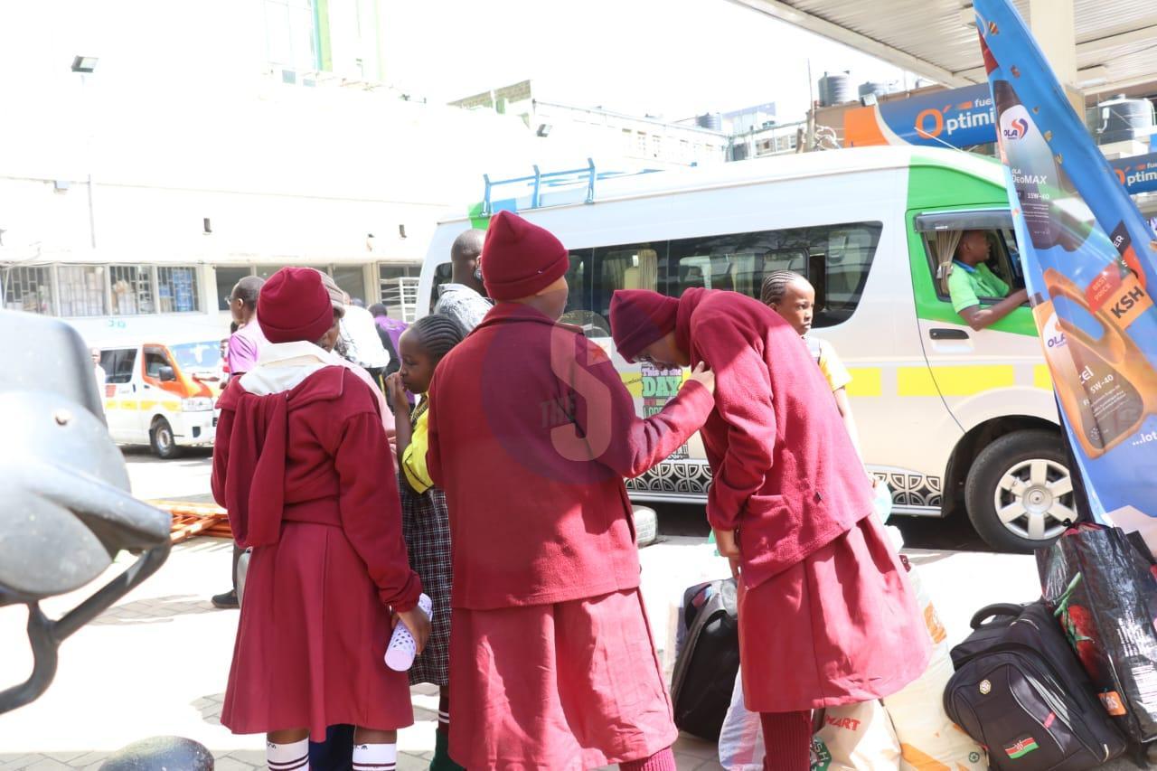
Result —
[[148, 445], [161, 458], [213, 445], [223, 383], [220, 340], [97, 347], [113, 441]]

